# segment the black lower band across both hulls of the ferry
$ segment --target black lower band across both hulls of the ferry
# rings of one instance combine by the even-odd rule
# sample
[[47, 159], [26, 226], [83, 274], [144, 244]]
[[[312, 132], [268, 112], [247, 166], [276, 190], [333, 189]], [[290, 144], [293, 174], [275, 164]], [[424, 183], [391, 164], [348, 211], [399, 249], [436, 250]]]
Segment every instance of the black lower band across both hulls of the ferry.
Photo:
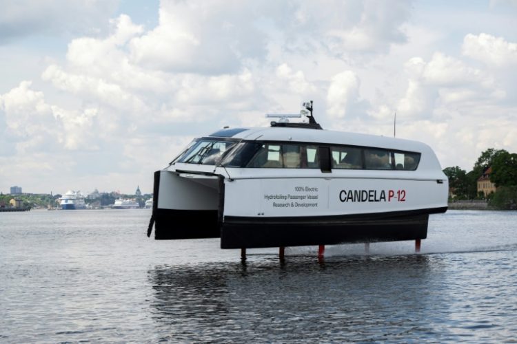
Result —
[[[434, 211], [443, 213], [445, 210]], [[429, 213], [265, 219], [225, 217], [216, 211], [158, 209], [155, 239], [221, 237], [221, 248], [307, 246], [425, 239]]]

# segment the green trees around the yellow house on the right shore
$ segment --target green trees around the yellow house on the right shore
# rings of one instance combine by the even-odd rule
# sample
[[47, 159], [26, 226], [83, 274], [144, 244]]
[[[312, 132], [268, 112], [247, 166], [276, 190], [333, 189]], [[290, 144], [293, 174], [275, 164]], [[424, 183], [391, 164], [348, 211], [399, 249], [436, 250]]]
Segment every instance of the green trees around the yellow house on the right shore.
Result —
[[[490, 181], [496, 186], [496, 192], [487, 196], [478, 192], [478, 179], [491, 167]], [[455, 200], [476, 200], [487, 198], [489, 204], [500, 209], [517, 208], [517, 154], [505, 149], [489, 148], [483, 151], [474, 164], [472, 171], [460, 169], [459, 166], [443, 170], [449, 178], [449, 190], [453, 191]]]

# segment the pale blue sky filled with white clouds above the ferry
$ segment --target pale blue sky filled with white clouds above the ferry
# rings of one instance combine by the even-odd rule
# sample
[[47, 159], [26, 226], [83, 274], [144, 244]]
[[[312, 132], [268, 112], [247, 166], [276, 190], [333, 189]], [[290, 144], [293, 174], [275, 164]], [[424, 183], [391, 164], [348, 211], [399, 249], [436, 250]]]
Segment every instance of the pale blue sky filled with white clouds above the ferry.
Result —
[[517, 1], [0, 0], [0, 191], [152, 193], [192, 138], [324, 129], [517, 152]]

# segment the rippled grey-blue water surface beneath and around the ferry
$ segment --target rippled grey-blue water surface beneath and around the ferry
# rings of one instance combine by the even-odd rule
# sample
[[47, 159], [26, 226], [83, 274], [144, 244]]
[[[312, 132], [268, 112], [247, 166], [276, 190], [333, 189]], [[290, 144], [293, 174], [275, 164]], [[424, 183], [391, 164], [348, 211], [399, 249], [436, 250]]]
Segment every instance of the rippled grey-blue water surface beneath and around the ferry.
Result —
[[0, 342], [500, 342], [517, 337], [517, 212], [432, 215], [414, 243], [220, 250], [148, 210], [0, 213]]

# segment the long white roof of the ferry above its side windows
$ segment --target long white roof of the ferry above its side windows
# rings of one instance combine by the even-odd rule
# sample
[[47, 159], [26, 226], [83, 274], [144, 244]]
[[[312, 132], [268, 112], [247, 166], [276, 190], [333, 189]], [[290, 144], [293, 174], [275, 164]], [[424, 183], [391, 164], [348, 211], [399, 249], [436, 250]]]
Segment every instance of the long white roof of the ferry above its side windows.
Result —
[[376, 136], [365, 133], [349, 133], [325, 129], [294, 127], [225, 128], [210, 134], [210, 137], [236, 138], [241, 140], [314, 142], [323, 144], [347, 144], [360, 147], [378, 147], [403, 151], [427, 151], [423, 142]]

